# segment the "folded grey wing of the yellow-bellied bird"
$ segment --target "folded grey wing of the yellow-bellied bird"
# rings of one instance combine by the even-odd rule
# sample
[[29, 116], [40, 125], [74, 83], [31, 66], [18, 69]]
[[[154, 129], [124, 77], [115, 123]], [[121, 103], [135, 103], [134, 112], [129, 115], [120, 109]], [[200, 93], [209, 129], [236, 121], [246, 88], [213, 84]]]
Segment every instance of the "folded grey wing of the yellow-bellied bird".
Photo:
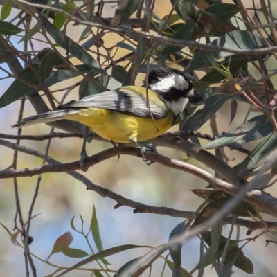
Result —
[[133, 91], [105, 91], [99, 94], [84, 97], [77, 102], [61, 105], [59, 109], [84, 109], [102, 108], [119, 111], [124, 114], [132, 114], [139, 117], [150, 118], [150, 110], [154, 119], [165, 118], [168, 114], [168, 107], [163, 102], [154, 103], [150, 100], [150, 109], [146, 100]]

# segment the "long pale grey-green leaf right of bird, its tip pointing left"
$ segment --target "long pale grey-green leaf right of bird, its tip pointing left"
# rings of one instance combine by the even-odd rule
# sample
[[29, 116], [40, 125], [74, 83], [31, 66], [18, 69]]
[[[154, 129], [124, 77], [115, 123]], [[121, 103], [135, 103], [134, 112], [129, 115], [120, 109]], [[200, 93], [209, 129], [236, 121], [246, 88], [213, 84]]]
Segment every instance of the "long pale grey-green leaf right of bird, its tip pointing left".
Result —
[[[263, 136], [268, 135], [272, 132], [274, 127], [271, 123], [268, 122], [268, 118], [265, 115], [255, 116], [240, 126], [233, 129], [231, 132], [228, 132], [220, 138], [215, 139], [214, 141], [209, 141], [204, 144], [202, 148], [204, 149], [214, 149], [214, 148], [222, 148], [226, 145], [231, 145], [231, 143], [235, 143], [236, 141], [244, 139], [244, 144], [253, 141], [255, 139], [260, 139]], [[242, 141], [240, 143], [242, 145]], [[237, 148], [239, 145], [232, 145], [232, 148]]]

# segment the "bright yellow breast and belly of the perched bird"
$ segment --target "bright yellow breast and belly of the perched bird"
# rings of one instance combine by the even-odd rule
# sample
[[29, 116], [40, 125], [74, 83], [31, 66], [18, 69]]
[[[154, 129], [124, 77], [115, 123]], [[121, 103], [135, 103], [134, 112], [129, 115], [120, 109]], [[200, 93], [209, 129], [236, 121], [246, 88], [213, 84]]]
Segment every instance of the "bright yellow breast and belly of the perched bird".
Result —
[[98, 108], [80, 109], [78, 114], [69, 114], [64, 118], [78, 121], [102, 138], [116, 143], [129, 143], [129, 139], [148, 141], [166, 132], [173, 123], [171, 111], [166, 118], [154, 120], [157, 128], [151, 118]]

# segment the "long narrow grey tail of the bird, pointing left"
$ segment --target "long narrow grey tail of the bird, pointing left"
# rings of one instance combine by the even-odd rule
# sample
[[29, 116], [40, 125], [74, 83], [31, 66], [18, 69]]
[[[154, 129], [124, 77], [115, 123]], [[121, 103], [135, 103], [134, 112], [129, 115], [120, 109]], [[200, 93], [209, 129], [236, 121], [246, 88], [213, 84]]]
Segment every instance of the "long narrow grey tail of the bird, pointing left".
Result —
[[78, 114], [78, 109], [61, 109], [57, 111], [48, 111], [43, 114], [37, 114], [35, 116], [30, 116], [19, 120], [12, 128], [19, 128], [21, 126], [35, 125], [39, 123], [48, 123], [51, 121], [62, 120], [64, 116], [68, 114]]

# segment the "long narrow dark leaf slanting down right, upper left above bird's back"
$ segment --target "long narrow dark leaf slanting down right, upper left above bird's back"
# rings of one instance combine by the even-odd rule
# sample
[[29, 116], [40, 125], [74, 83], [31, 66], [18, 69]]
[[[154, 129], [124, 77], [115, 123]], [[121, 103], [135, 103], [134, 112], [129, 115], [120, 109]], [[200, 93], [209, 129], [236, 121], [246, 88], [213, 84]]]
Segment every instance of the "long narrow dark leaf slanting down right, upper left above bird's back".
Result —
[[72, 39], [64, 35], [60, 30], [57, 30], [53, 24], [51, 24], [40, 12], [38, 12], [39, 19], [42, 21], [42, 25], [46, 28], [47, 32], [57, 44], [60, 44], [62, 48], [69, 51], [74, 57], [77, 57], [81, 62], [87, 65], [91, 70], [101, 73], [103, 69], [100, 69], [99, 63], [87, 53], [87, 51], [78, 45], [76, 42], [73, 42]]

